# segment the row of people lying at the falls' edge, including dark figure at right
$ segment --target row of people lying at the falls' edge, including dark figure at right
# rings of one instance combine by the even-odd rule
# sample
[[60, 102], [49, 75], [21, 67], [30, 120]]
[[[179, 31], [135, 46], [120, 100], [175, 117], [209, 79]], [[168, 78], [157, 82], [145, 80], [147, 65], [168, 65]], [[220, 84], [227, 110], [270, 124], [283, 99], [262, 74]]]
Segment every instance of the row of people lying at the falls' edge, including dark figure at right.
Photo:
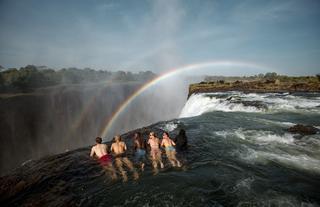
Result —
[[[150, 151], [150, 160], [154, 173], [158, 172], [158, 166], [164, 168], [162, 160], [162, 150], [163, 147], [165, 154], [173, 167], [181, 167], [181, 162], [176, 157], [176, 148], [178, 150], [186, 150], [187, 148], [187, 137], [183, 129], [180, 130], [178, 136], [172, 140], [168, 132], [163, 132], [162, 140], [156, 137], [154, 132], [149, 133], [149, 139], [146, 141], [140, 132], [136, 132], [133, 137], [133, 149], [134, 149], [134, 163], [138, 165], [141, 171], [147, 162], [147, 151]], [[134, 164], [127, 157], [127, 145], [121, 140], [119, 135], [114, 137], [113, 143], [111, 144], [110, 150], [108, 145], [102, 143], [102, 138], [96, 138], [96, 145], [91, 148], [90, 156], [97, 157], [99, 163], [103, 168], [111, 175], [112, 179], [117, 179], [117, 171], [120, 172], [123, 181], [127, 181], [127, 173], [124, 170], [126, 166], [133, 174], [133, 179], [137, 180], [139, 178], [139, 173], [134, 167]], [[110, 153], [109, 153], [110, 152]], [[113, 161], [115, 167], [113, 167]]]

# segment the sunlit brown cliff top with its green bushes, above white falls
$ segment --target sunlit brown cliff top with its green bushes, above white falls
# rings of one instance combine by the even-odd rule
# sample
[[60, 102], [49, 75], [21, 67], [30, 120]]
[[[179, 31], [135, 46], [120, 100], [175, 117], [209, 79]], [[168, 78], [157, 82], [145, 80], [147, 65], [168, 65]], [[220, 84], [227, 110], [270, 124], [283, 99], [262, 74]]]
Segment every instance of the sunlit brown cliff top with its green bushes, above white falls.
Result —
[[289, 77], [266, 74], [251, 77], [208, 76], [205, 81], [189, 86], [194, 93], [242, 91], [248, 93], [320, 92], [320, 75]]

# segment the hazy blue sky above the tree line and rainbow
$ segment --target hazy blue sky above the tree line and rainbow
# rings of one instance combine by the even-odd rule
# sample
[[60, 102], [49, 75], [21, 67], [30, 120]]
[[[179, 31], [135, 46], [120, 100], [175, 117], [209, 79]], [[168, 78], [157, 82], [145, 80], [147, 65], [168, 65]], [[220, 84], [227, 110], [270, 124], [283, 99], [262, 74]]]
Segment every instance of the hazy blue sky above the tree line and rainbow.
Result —
[[320, 72], [319, 0], [0, 0], [0, 28], [5, 68], [160, 73], [241, 61]]

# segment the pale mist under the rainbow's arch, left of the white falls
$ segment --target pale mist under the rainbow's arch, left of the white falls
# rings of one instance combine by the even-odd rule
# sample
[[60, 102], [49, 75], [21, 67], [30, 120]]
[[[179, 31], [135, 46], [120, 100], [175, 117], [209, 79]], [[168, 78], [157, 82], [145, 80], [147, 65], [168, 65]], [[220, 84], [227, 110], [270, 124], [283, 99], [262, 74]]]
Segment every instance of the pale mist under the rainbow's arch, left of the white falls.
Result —
[[119, 113], [107, 131], [106, 140], [111, 140], [116, 134], [178, 118], [187, 101], [189, 84], [201, 80], [203, 76], [180, 75], [150, 86]]

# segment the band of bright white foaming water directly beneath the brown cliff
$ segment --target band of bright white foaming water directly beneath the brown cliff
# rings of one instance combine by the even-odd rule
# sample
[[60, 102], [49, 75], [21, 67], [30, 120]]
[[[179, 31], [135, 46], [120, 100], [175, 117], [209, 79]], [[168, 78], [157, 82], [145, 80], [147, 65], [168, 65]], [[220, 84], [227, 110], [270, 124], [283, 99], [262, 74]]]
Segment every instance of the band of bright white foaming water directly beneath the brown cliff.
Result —
[[[227, 98], [226, 98], [227, 97]], [[272, 113], [310, 111], [320, 113], [318, 97], [278, 93], [218, 92], [193, 94], [183, 107], [180, 118], [199, 116], [212, 111]]]

